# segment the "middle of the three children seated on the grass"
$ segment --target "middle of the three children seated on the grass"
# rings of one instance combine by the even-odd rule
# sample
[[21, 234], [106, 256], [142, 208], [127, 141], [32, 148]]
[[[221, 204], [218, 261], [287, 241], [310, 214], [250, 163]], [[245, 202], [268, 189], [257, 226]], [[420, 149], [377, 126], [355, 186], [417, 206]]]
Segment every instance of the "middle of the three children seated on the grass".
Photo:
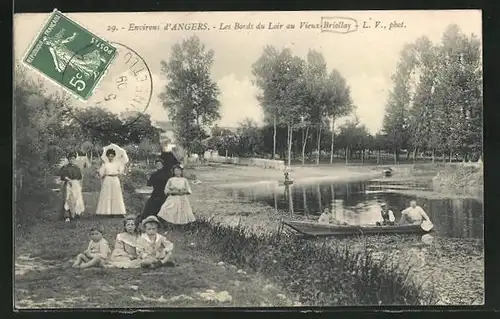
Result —
[[137, 231], [136, 217], [128, 215], [123, 220], [124, 231], [116, 236], [115, 246], [109, 259], [109, 267], [139, 268], [137, 258]]

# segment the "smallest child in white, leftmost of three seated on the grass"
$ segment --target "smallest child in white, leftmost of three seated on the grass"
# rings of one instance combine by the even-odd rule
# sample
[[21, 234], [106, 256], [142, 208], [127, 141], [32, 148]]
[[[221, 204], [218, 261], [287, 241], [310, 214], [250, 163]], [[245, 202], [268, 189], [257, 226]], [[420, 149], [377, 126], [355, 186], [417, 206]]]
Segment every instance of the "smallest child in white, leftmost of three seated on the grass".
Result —
[[109, 256], [109, 243], [103, 237], [103, 231], [99, 227], [90, 229], [90, 243], [83, 253], [76, 256], [74, 268], [103, 267]]

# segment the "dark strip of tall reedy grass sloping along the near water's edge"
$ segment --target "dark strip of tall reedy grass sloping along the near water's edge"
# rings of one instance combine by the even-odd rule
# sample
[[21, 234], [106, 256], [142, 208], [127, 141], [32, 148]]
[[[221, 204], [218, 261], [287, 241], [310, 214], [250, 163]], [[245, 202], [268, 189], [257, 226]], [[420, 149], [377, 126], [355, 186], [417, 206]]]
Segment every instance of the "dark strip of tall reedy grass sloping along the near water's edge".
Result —
[[[222, 260], [273, 277], [308, 305], [419, 305], [420, 287], [395, 264], [377, 263], [368, 251], [319, 246], [281, 232], [254, 234], [198, 220], [188, 227], [197, 245]], [[383, 266], [385, 265], [385, 266]]]

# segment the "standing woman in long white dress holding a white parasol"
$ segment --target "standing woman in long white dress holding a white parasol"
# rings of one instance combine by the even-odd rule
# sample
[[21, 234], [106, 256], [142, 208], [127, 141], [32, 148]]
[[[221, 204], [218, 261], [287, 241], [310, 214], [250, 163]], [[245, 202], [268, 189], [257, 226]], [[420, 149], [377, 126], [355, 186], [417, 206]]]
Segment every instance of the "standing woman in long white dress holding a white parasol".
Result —
[[99, 169], [102, 178], [101, 193], [97, 204], [96, 215], [125, 215], [122, 187], [119, 175], [123, 174], [123, 165], [115, 161], [116, 152], [113, 149], [106, 151], [107, 162]]

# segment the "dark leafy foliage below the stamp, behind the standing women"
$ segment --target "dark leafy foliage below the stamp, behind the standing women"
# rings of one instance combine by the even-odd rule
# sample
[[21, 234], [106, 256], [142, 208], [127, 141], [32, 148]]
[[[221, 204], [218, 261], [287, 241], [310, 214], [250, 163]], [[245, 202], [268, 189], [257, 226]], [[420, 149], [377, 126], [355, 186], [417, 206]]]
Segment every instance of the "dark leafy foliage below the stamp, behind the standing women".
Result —
[[68, 153], [99, 157], [102, 147], [125, 146], [133, 157], [160, 150], [159, 130], [147, 114], [117, 115], [98, 107], [76, 108], [64, 93], [49, 93], [18, 64], [14, 78], [14, 174], [18, 199], [43, 189]]

